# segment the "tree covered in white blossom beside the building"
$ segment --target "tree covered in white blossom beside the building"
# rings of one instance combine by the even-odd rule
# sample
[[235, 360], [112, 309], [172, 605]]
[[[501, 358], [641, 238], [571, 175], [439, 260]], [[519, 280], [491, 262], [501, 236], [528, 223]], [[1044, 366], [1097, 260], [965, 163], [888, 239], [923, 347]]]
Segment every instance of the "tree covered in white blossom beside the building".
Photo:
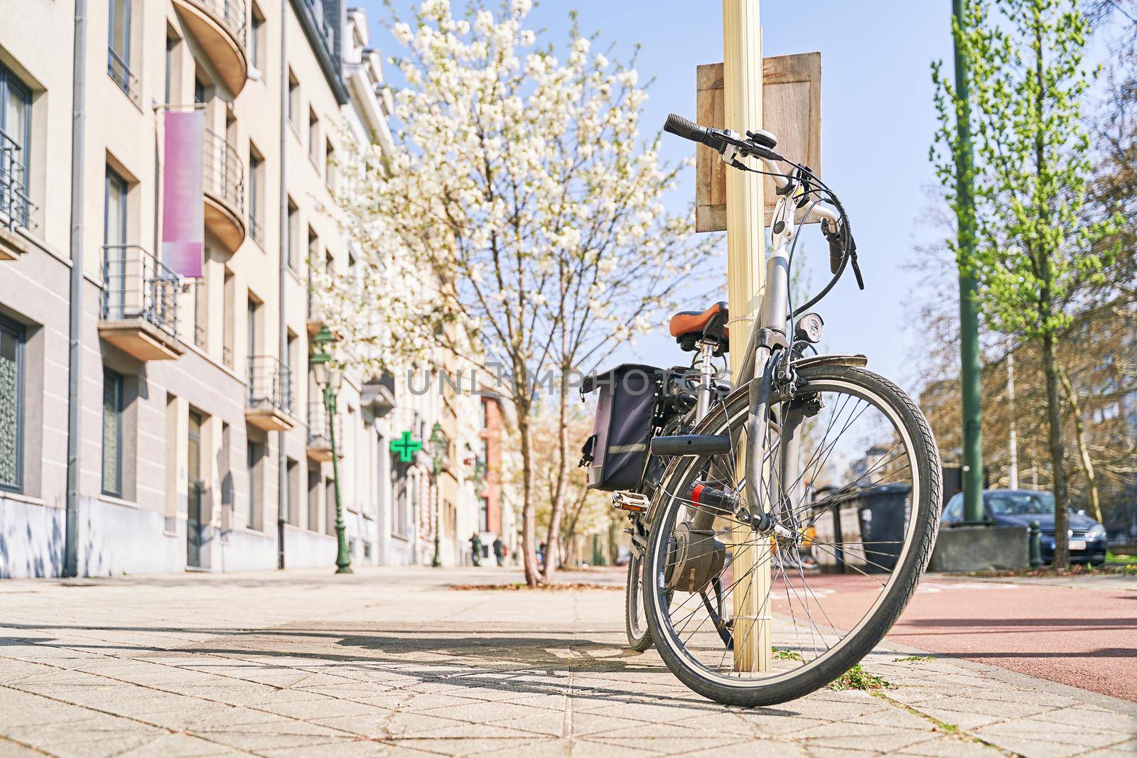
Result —
[[[556, 556], [575, 445], [567, 403], [574, 369], [591, 369], [661, 323], [709, 243], [691, 214], [662, 203], [683, 165], [639, 134], [647, 98], [633, 68], [594, 53], [573, 25], [562, 57], [524, 28], [530, 0], [455, 17], [426, 0], [395, 23], [399, 148], [345, 160], [341, 205], [364, 249], [360, 288], [317, 283], [332, 326], [355, 355], [385, 363], [441, 344], [495, 376], [516, 410], [525, 575], [536, 560], [532, 417], [557, 403], [557, 485], [547, 555]], [[468, 334], [478, 350], [459, 350]], [[570, 451], [570, 447], [573, 448]], [[556, 561], [547, 561], [545, 580]]]

